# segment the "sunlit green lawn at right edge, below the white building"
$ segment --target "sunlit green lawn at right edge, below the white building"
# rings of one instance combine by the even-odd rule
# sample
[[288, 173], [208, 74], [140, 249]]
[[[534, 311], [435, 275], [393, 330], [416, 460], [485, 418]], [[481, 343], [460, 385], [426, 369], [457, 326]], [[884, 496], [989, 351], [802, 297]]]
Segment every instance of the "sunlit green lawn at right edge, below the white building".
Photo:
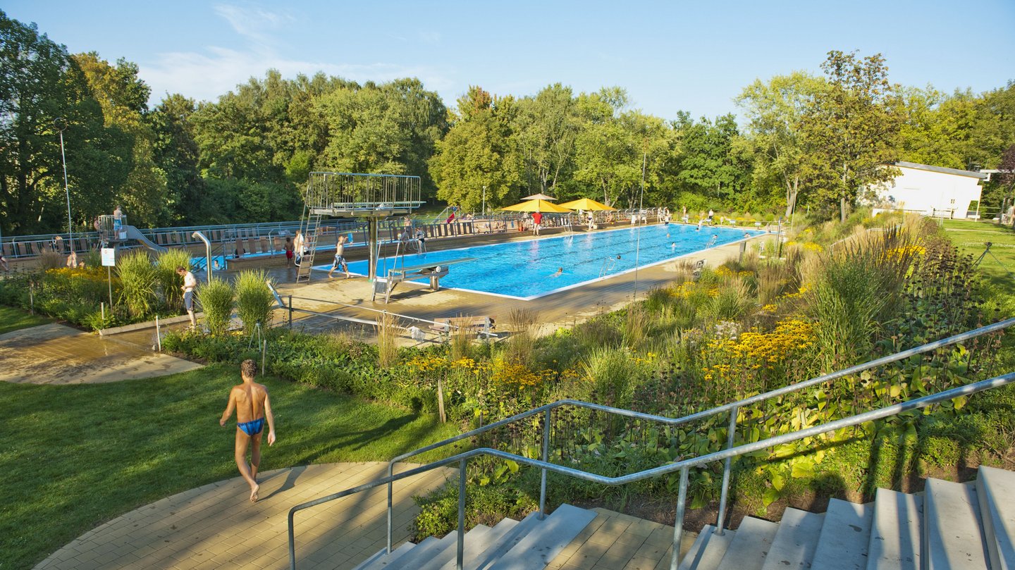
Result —
[[1010, 226], [965, 220], [945, 220], [945, 233], [963, 254], [979, 258], [990, 241], [991, 254], [979, 263], [988, 300], [997, 301], [1004, 316], [1015, 315], [1015, 231]]

